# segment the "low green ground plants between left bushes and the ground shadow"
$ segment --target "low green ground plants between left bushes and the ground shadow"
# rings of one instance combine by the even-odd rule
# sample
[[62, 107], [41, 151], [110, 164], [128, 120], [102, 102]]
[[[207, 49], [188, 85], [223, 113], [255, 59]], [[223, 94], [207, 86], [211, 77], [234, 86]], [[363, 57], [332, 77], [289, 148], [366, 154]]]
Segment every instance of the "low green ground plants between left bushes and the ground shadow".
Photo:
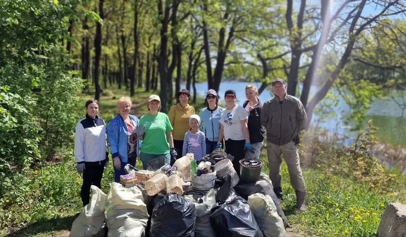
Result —
[[56, 218], [81, 208], [81, 178], [73, 164], [72, 150], [67, 150], [60, 164], [40, 170], [25, 170], [6, 177], [2, 186], [7, 193], [0, 198], [0, 229]]

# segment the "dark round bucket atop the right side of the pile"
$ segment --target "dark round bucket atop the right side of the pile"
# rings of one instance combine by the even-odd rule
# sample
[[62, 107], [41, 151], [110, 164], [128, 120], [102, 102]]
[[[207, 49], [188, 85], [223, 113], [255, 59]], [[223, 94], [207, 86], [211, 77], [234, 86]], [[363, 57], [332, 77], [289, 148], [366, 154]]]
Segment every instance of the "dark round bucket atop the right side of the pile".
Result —
[[262, 170], [262, 161], [259, 159], [246, 158], [240, 160], [240, 182], [255, 183], [259, 180]]

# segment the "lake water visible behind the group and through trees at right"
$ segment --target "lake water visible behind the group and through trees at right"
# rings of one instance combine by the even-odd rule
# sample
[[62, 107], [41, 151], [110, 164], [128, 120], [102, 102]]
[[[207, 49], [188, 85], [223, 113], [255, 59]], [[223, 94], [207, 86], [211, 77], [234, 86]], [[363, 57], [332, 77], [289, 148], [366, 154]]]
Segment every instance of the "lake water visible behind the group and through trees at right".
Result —
[[[222, 82], [220, 84], [220, 90], [217, 92], [220, 96], [220, 103], [224, 103], [224, 92], [228, 89], [233, 89], [236, 92], [237, 95], [237, 100], [238, 103], [241, 105], [245, 101], [245, 86], [248, 84], [253, 84], [257, 88], [260, 87], [261, 83], [247, 83], [247, 82]], [[299, 89], [301, 85], [299, 85]], [[185, 85], [182, 85], [182, 87], [185, 87]], [[311, 95], [310, 97], [313, 96], [313, 94], [316, 92], [318, 88], [317, 87], [312, 87], [311, 89]], [[197, 83], [196, 84], [196, 90], [198, 95], [204, 96], [207, 89], [207, 83]], [[191, 93], [193, 92], [193, 89], [191, 88]], [[265, 89], [259, 96], [259, 99], [261, 100], [262, 103], [264, 103], [266, 100], [270, 99], [273, 97], [273, 93], [269, 89]], [[405, 97], [406, 99], [406, 97]], [[321, 104], [327, 104], [327, 105], [332, 105], [334, 104], [333, 102], [336, 101], [335, 106], [327, 106], [323, 107]], [[351, 132], [351, 124], [346, 125], [344, 123], [344, 117], [348, 116], [350, 114], [350, 108], [346, 105], [344, 99], [339, 96], [339, 94], [335, 91], [333, 91], [333, 98], [325, 98], [319, 103], [319, 105], [316, 107], [318, 108], [328, 108], [327, 111], [324, 111], [324, 113], [315, 113], [312, 118], [312, 124], [317, 125], [321, 128], [326, 129], [329, 132], [334, 132], [338, 133], [347, 137], [345, 139], [345, 144], [349, 145], [353, 143], [354, 139], [357, 136], [357, 132]], [[404, 132], [399, 132], [399, 117], [401, 116], [401, 109], [399, 106], [391, 99], [381, 99], [375, 101], [371, 106], [370, 109], [367, 113], [367, 118], [374, 118], [375, 120], [380, 120], [377, 121], [379, 125], [379, 129], [382, 129], [380, 132], [385, 134], [385, 136], [390, 137], [390, 141], [401, 141], [402, 139], [405, 139], [405, 134]], [[375, 124], [375, 122], [374, 122]], [[401, 126], [402, 129], [404, 130], [404, 126]], [[388, 139], [389, 140], [389, 139]], [[403, 140], [404, 141], [404, 140]]]

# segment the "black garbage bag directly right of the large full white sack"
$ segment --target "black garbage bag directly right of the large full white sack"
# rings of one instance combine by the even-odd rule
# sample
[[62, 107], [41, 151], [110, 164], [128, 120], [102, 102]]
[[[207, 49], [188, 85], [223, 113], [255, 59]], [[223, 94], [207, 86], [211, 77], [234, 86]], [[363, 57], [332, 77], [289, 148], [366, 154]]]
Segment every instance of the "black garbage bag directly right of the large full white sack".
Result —
[[195, 221], [194, 204], [177, 193], [169, 193], [152, 211], [150, 236], [194, 237]]

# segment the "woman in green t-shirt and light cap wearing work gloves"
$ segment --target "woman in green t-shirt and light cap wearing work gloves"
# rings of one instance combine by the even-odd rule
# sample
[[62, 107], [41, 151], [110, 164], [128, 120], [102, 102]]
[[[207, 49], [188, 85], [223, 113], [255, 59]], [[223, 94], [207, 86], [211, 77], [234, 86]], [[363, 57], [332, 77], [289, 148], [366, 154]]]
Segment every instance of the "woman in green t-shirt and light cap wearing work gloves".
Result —
[[136, 132], [141, 143], [140, 159], [144, 170], [147, 169], [148, 161], [159, 156], [165, 156], [165, 163], [169, 164], [171, 158], [176, 159], [177, 153], [174, 148], [172, 137], [172, 125], [166, 114], [159, 112], [161, 99], [158, 95], [151, 95], [148, 99], [148, 114], [140, 119], [140, 129]]

